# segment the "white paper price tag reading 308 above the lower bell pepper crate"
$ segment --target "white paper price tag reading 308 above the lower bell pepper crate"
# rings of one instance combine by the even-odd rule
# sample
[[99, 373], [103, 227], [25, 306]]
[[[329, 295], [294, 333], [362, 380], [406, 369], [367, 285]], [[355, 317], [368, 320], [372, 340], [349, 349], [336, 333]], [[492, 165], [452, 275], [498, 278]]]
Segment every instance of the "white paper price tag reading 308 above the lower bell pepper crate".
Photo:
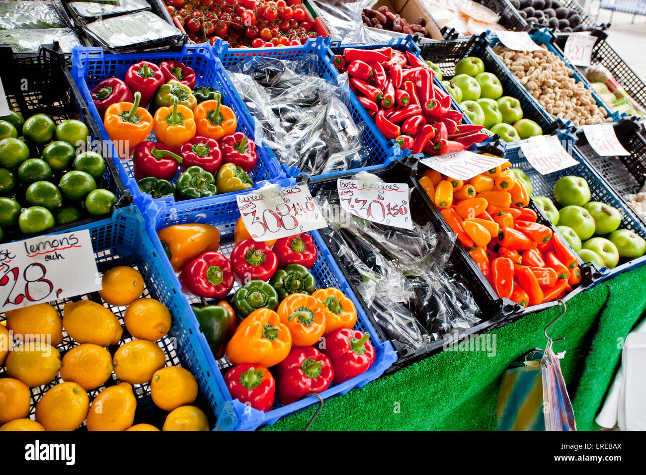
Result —
[[269, 241], [327, 227], [321, 210], [306, 185], [262, 187], [236, 196], [238, 209], [251, 237]]

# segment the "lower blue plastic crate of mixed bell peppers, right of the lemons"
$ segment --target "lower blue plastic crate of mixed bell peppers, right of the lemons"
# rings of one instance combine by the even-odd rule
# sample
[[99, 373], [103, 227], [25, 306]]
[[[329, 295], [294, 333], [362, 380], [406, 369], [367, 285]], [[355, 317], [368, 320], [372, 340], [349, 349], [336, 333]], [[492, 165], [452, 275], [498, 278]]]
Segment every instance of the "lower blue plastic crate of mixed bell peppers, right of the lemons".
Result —
[[[148, 231], [154, 244], [154, 248], [159, 255], [163, 256], [164, 253], [156, 231], [167, 226], [172, 226], [173, 224], [182, 223], [201, 222], [217, 226], [222, 235], [218, 252], [223, 253], [225, 256], [229, 256], [234, 248], [233, 229], [236, 221], [240, 217], [235, 200], [222, 200], [220, 202], [211, 202], [209, 204], [202, 203], [195, 207], [183, 203], [176, 204], [174, 207], [161, 205], [151, 207], [148, 211], [150, 218]], [[375, 328], [370, 323], [370, 319], [368, 319], [368, 316], [362, 310], [355, 293], [353, 293], [346, 280], [341, 277], [342, 273], [333, 259], [333, 256], [329, 253], [329, 250], [318, 231], [312, 231], [310, 234], [314, 238], [318, 248], [317, 261], [310, 269], [317, 279], [318, 288], [337, 287], [352, 299], [357, 307], [357, 324], [355, 325], [355, 328], [362, 331], [368, 331], [370, 333], [371, 342], [375, 346], [375, 351], [377, 352], [377, 359], [367, 372], [339, 385], [333, 384], [328, 390], [320, 393], [320, 396], [323, 399], [327, 399], [328, 397], [336, 396], [337, 394], [346, 394], [346, 392], [352, 388], [364, 386], [370, 381], [373, 381], [373, 379], [377, 379], [377, 377], [388, 369], [391, 364], [395, 363], [397, 360], [397, 354], [395, 353], [395, 350], [393, 350], [390, 342], [380, 341], [379, 334], [375, 331]], [[172, 274], [171, 285], [174, 284], [174, 286], [179, 289], [180, 283], [174, 273], [172, 273], [171, 263], [168, 259], [162, 260], [167, 268], [167, 272]], [[234, 286], [232, 293], [236, 288], [238, 288], [237, 284]], [[194, 296], [186, 295], [186, 297], [188, 301], [191, 302], [199, 301], [199, 299]], [[220, 390], [220, 393], [224, 395], [224, 401], [218, 401], [216, 414], [220, 414], [220, 420], [227, 421], [227, 425], [222, 426], [218, 423], [218, 428], [253, 430], [261, 425], [273, 425], [273, 423], [280, 419], [280, 417], [291, 414], [292, 412], [300, 410], [306, 406], [318, 403], [318, 399], [313, 396], [289, 405], [281, 405], [276, 401], [271, 411], [261, 412], [251, 408], [250, 406], [244, 405], [238, 401], [238, 399], [232, 399], [224, 381], [224, 373], [227, 368], [231, 366], [231, 363], [229, 363], [226, 358], [222, 358], [217, 361], [214, 359], [204, 335], [199, 332], [199, 325], [196, 322], [194, 325], [196, 336], [202, 345], [202, 350], [207, 354], [208, 365], [206, 368], [213, 377], [214, 383]]]

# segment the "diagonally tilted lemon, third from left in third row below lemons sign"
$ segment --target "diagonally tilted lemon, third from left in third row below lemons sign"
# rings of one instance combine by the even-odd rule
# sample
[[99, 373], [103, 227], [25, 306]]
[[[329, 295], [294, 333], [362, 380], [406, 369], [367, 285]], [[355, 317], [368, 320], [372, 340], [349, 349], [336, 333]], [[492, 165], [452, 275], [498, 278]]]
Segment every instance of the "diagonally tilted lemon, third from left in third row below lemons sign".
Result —
[[137, 400], [128, 383], [105, 388], [92, 402], [87, 430], [126, 430], [134, 421], [136, 406]]

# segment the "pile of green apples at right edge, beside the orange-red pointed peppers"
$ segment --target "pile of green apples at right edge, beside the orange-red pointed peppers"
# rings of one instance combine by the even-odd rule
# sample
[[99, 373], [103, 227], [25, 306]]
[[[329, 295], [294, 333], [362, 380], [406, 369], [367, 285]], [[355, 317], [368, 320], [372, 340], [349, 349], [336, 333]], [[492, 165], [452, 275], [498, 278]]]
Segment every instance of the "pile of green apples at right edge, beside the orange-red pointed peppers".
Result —
[[583, 262], [612, 269], [620, 259], [632, 260], [646, 254], [646, 240], [630, 229], [618, 229], [619, 210], [590, 201], [590, 187], [580, 176], [562, 176], [554, 184], [554, 198], [560, 210], [545, 196], [532, 198]]

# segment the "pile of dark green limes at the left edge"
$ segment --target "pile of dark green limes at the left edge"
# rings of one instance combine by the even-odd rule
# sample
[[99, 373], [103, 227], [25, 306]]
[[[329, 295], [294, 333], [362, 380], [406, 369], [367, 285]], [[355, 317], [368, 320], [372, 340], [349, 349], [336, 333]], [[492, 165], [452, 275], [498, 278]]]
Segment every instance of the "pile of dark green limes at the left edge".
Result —
[[101, 189], [105, 160], [85, 151], [88, 136], [79, 120], [0, 117], [0, 240], [112, 211], [117, 197]]

